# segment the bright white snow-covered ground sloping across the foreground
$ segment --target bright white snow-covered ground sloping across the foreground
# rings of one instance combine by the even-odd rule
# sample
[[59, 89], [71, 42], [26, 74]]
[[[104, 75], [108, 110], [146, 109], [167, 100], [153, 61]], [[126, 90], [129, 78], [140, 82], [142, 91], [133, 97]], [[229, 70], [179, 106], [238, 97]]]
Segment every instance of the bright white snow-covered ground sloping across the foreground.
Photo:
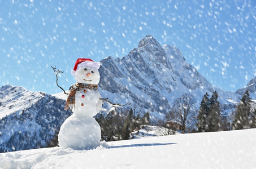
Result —
[[145, 137], [92, 150], [0, 154], [2, 168], [256, 168], [256, 129]]

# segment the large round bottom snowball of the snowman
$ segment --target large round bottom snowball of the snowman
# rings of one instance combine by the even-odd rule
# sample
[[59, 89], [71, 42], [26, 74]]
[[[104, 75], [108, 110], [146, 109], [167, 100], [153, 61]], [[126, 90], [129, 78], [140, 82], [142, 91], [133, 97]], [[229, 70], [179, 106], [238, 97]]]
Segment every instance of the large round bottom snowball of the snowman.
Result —
[[75, 150], [93, 149], [101, 145], [101, 127], [92, 117], [75, 114], [64, 121], [59, 131], [59, 146]]

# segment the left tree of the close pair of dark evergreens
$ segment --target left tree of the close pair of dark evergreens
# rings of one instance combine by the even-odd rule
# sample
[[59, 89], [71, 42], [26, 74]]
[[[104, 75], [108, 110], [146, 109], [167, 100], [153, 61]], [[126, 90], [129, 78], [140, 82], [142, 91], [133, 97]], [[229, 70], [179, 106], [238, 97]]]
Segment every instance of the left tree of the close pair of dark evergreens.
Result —
[[202, 101], [199, 107], [199, 113], [197, 115], [197, 128], [198, 132], [205, 132], [207, 131], [207, 121], [206, 116], [209, 111], [209, 94], [206, 92], [205, 95], [202, 97]]

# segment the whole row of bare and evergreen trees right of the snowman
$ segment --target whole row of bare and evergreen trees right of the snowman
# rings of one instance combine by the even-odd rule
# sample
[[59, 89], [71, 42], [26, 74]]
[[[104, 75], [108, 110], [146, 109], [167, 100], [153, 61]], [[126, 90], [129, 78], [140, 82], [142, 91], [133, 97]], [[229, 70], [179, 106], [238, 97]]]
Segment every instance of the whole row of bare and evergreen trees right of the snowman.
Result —
[[[230, 119], [231, 122], [228, 122], [226, 114], [222, 113], [218, 92], [212, 92], [211, 97], [206, 92], [198, 110], [194, 109], [195, 103], [196, 100], [192, 95], [182, 95], [173, 102], [170, 113], [166, 114], [166, 120], [158, 121], [159, 123], [155, 125], [169, 128], [172, 131], [180, 130], [183, 133], [256, 128], [256, 109], [251, 107], [248, 90], [245, 91], [237, 105], [233, 118]], [[96, 120], [101, 126], [102, 140], [125, 140], [129, 139], [131, 132], [138, 126], [150, 124], [150, 112], [140, 117], [139, 114], [135, 115], [132, 109], [120, 114], [112, 110], [106, 116], [99, 114]]]

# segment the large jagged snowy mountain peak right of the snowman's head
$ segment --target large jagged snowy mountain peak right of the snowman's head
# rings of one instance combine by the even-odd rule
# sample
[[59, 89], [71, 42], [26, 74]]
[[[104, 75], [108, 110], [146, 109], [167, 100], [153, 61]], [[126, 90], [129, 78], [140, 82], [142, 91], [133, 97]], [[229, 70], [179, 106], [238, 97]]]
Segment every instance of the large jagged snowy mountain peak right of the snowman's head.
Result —
[[197, 70], [186, 63], [175, 46], [161, 46], [151, 35], [141, 39], [127, 56], [101, 60], [99, 91], [114, 103], [127, 102], [150, 110], [151, 115], [166, 113], [172, 101], [190, 93], [198, 100], [217, 91], [224, 109], [232, 109], [238, 100], [233, 92], [213, 87]]

